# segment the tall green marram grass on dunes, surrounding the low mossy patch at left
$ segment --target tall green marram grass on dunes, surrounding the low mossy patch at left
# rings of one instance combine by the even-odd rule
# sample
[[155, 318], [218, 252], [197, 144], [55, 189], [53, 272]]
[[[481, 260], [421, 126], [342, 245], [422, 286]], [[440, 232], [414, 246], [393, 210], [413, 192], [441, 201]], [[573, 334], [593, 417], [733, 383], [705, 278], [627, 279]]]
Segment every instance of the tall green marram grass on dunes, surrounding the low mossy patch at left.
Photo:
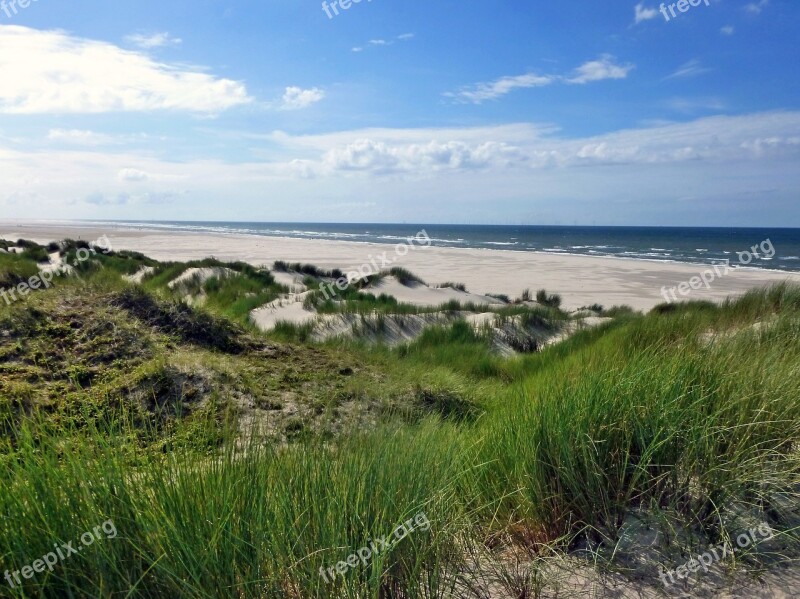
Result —
[[[90, 280], [61, 282], [42, 297], [61, 298], [67, 289], [72, 299], [107, 294], [120, 286], [114, 269], [132, 270], [113, 261], [97, 268], [85, 273]], [[242, 273], [233, 287], [207, 286], [211, 311], [221, 305], [215, 293], [247, 297], [263, 276]], [[27, 312], [0, 306], [0, 329], [23, 314], [63, 312], [72, 299], [32, 299], [35, 309]], [[194, 359], [201, 351], [196, 335], [174, 335], [170, 314], [155, 314], [156, 334], [147, 319], [130, 324], [114, 312], [107, 318], [111, 338], [119, 340], [126, 327], [148, 330], [152, 347], [142, 351], [153, 357], [142, 354], [141, 368], [152, 373], [165, 371], [160, 356], [175, 346], [187, 364], [214, 355], [223, 361], [225, 350], [208, 344], [203, 359]], [[215, 322], [180, 316], [189, 324]], [[498, 538], [534, 553], [579, 542], [613, 546], [634, 510], [677, 514], [711, 541], [735, 532], [729, 514], [743, 509], [786, 538], [794, 535], [787, 529], [800, 505], [796, 287], [754, 291], [720, 307], [624, 314], [513, 359], [492, 355], [486, 339], [461, 325], [399, 350], [339, 343], [338, 354], [377, 371], [350, 387], [356, 395], [394, 393], [406, 384], [437, 415], [376, 418], [334, 438], [304, 435], [268, 445], [255, 435], [241, 438], [241, 429], [223, 430], [236, 414], [207, 410], [208, 417], [170, 425], [176, 438], [203, 440], [204, 450], [171, 442], [163, 453], [135, 451], [141, 431], [134, 411], [102, 405], [100, 383], [116, 379], [104, 376], [81, 390], [89, 354], [75, 353], [79, 368], [69, 387], [80, 418], [32, 409], [25, 385], [35, 387], [52, 357], [26, 351], [51, 333], [63, 338], [63, 331], [29, 325], [35, 339], [0, 337], [0, 575], [104, 521], [113, 521], [118, 534], [15, 588], [0, 580], [1, 596], [461, 597], [470, 583], [468, 556]], [[219, 330], [234, 334], [228, 326]], [[320, 348], [287, 351], [308, 352], [302, 363], [309, 369], [329, 367]], [[226, 369], [252, 370], [248, 380], [263, 374], [224, 356]], [[23, 358], [30, 362], [24, 385], [17, 376]], [[117, 376], [124, 363], [106, 368]], [[290, 378], [298, 388], [309, 382], [307, 373]], [[414, 531], [333, 581], [320, 575], [419, 513], [429, 530]]]

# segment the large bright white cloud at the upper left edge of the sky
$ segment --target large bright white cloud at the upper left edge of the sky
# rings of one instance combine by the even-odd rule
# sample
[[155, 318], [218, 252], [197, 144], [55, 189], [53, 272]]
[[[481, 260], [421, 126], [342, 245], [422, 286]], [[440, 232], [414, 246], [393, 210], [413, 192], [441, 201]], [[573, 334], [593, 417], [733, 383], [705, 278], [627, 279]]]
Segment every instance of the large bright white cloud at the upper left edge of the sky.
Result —
[[251, 101], [241, 82], [64, 31], [0, 25], [0, 47], [0, 113], [213, 114]]

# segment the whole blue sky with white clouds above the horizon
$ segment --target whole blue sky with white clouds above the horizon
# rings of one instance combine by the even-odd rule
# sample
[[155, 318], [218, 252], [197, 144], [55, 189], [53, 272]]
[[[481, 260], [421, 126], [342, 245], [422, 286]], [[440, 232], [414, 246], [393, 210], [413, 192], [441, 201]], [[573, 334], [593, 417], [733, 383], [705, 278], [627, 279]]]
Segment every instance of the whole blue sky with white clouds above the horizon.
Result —
[[692, 1], [0, 0], [0, 218], [798, 227], [800, 3]]

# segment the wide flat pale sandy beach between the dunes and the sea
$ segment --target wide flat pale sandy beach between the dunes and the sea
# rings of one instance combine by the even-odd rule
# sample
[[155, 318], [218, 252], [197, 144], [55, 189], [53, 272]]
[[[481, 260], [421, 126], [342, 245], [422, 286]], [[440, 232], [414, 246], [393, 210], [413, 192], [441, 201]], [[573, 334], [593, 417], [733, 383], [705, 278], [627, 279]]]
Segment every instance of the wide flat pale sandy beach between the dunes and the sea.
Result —
[[[94, 240], [106, 235], [115, 250], [135, 250], [157, 260], [242, 260], [271, 265], [275, 260], [303, 262], [322, 268], [358, 270], [386, 252], [392, 266], [402, 266], [429, 285], [463, 283], [476, 294], [518, 297], [524, 289], [561, 294], [566, 309], [594, 303], [627, 304], [649, 310], [665, 301], [662, 288], [688, 285], [708, 265], [622, 258], [552, 255], [508, 250], [454, 249], [410, 244], [406, 255], [396, 246], [257, 235], [143, 230], [84, 223], [0, 221], [0, 238], [39, 243], [64, 238]], [[378, 260], [377, 263], [380, 264]], [[722, 269], [719, 271], [722, 273]], [[731, 269], [715, 276], [709, 288], [692, 289], [678, 299], [720, 301], [747, 289], [780, 281], [800, 283], [800, 274], [753, 268]], [[697, 286], [695, 281], [695, 286]]]

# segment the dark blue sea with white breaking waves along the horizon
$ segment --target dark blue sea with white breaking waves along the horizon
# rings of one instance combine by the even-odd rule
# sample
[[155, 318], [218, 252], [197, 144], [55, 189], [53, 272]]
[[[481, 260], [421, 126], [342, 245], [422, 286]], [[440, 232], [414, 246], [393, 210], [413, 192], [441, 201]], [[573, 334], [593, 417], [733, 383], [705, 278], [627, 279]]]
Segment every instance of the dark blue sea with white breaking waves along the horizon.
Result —
[[[557, 227], [500, 225], [324, 224], [115, 221], [142, 229], [247, 233], [397, 244], [424, 230], [432, 245], [517, 252], [613, 256], [800, 272], [800, 229], [718, 227]], [[767, 250], [762, 251], [761, 246]], [[753, 246], [756, 252], [752, 252]], [[745, 252], [746, 254], [740, 254]]]

